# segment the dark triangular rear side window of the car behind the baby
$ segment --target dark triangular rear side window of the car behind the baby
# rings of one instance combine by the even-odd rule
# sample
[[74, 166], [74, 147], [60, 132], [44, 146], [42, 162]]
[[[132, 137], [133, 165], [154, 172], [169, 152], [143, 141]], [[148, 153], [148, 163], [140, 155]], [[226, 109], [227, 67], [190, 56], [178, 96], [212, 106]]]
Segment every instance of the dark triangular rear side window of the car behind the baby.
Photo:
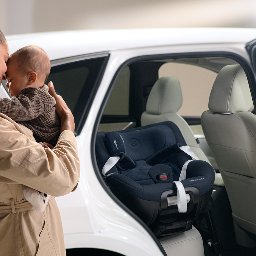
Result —
[[[47, 80], [52, 81], [56, 92], [63, 97], [72, 111], [76, 134], [82, 128], [96, 92], [107, 57], [79, 60], [56, 65], [51, 68]], [[56, 61], [55, 61], [56, 62]]]

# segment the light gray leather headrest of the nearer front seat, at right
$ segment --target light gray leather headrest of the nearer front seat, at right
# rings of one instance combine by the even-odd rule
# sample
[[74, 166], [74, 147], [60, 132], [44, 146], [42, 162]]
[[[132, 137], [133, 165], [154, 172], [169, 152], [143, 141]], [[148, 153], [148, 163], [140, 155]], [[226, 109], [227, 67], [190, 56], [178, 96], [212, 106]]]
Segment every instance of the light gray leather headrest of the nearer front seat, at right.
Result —
[[227, 65], [218, 73], [209, 98], [209, 110], [218, 113], [248, 111], [252, 96], [240, 65]]

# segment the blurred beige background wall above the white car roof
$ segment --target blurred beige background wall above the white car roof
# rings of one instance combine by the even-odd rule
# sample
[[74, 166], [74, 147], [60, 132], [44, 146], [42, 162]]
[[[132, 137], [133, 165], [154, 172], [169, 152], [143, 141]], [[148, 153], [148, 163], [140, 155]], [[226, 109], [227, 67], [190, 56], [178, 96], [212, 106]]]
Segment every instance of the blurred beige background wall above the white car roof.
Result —
[[256, 0], [0, 0], [5, 35], [73, 29], [256, 27]]

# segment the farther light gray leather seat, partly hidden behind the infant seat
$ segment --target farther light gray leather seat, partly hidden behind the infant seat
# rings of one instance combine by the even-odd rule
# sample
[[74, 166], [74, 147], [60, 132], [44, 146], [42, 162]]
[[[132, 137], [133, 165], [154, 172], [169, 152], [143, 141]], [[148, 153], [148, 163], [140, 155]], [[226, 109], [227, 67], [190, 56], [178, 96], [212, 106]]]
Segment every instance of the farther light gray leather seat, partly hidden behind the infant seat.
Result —
[[[188, 123], [177, 114], [182, 106], [182, 92], [177, 77], [161, 77], [158, 79], [150, 93], [146, 104], [146, 111], [141, 115], [141, 126], [163, 121], [172, 121], [180, 129], [187, 145], [200, 160], [209, 160], [202, 149], [199, 148], [195, 136]], [[215, 185], [224, 186], [220, 173], [215, 174]]]

